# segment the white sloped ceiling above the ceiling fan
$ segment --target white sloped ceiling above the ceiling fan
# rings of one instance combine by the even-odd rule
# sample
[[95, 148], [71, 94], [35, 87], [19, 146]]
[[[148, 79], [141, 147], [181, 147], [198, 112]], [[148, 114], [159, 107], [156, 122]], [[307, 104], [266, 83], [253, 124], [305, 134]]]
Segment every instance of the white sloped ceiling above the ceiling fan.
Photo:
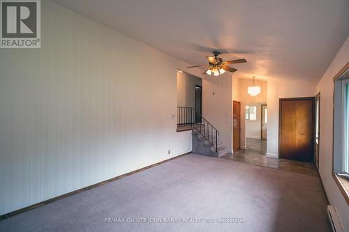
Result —
[[191, 65], [213, 50], [237, 77], [317, 80], [349, 36], [348, 0], [54, 0]]

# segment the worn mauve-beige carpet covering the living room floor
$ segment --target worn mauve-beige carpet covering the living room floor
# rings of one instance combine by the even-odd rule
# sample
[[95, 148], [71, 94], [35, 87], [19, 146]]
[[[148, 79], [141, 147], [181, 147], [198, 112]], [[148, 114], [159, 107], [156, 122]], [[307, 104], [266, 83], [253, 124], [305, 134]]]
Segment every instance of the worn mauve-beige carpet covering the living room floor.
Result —
[[4, 219], [0, 231], [320, 232], [326, 206], [316, 176], [191, 154]]

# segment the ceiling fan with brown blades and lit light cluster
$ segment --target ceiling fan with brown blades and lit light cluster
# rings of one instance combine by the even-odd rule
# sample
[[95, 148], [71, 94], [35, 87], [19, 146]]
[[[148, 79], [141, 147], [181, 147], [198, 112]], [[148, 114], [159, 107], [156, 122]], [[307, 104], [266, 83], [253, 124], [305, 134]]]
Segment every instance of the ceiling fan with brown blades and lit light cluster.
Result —
[[208, 65], [195, 65], [195, 66], [189, 66], [187, 68], [198, 68], [198, 67], [207, 67], [207, 70], [202, 73], [203, 75], [208, 74], [214, 76], [218, 76], [223, 74], [225, 71], [228, 72], [235, 72], [237, 69], [230, 68], [228, 65], [233, 63], [246, 63], [247, 61], [245, 59], [237, 59], [232, 61], [223, 61], [221, 57], [217, 57], [221, 52], [214, 51], [214, 56], [206, 56], [206, 59], [209, 61]]

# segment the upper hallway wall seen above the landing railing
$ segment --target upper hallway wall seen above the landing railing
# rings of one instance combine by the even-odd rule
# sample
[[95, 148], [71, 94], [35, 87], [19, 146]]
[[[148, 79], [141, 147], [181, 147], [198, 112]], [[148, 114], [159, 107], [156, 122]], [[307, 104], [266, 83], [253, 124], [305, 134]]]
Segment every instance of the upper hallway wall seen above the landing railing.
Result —
[[177, 106], [195, 108], [195, 85], [202, 86], [202, 79], [177, 72]]

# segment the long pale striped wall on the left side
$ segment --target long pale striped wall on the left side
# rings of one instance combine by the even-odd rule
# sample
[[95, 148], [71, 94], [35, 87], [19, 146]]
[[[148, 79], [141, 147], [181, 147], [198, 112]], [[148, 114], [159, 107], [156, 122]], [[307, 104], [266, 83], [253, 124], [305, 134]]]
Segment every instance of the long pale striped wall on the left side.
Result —
[[191, 151], [186, 63], [41, 4], [42, 48], [0, 51], [0, 215]]

